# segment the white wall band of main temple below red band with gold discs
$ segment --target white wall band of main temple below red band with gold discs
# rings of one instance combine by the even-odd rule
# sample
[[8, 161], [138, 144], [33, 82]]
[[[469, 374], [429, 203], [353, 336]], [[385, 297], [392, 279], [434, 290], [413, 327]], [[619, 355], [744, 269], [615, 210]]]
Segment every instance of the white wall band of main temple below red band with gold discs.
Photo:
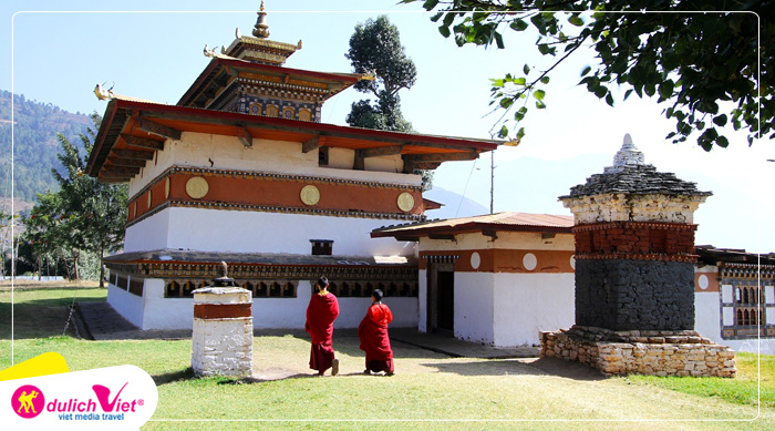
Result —
[[332, 239], [334, 256], [414, 255], [414, 243], [370, 238], [371, 230], [390, 223], [396, 222], [173, 207], [127, 228], [124, 252], [182, 248], [310, 255], [310, 239]]

